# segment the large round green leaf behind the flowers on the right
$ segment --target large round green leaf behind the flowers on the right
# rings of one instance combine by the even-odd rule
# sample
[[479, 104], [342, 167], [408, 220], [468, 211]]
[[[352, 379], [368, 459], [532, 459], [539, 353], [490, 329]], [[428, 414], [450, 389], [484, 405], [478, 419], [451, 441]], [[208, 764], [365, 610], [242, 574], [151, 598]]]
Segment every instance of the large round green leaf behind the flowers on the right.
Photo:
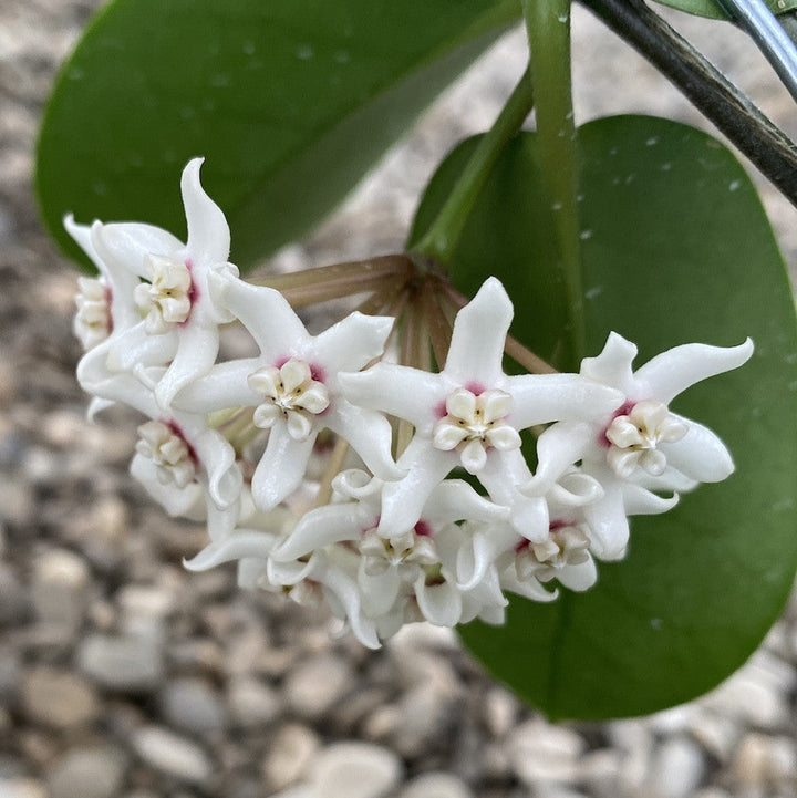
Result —
[[[666, 515], [632, 518], [628, 558], [599, 563], [591, 591], [562, 589], [551, 604], [514, 598], [506, 626], [462, 628], [495, 676], [555, 718], [640, 715], [711, 690], [759, 644], [797, 566], [795, 312], [753, 185], [724, 146], [674, 122], [599, 120], [580, 144], [590, 354], [611, 330], [639, 344], [636, 365], [691, 341], [751, 335], [756, 353], [673, 403], [725, 441], [737, 467], [729, 479]], [[536, 229], [546, 213], [535, 157], [534, 134], [506, 152], [453, 266], [468, 291], [488, 273], [506, 280], [516, 332], [534, 350], [556, 334], [528, 309], [560, 299], [551, 250], [535, 249], [546, 235]], [[457, 158], [433, 178], [420, 218]]]

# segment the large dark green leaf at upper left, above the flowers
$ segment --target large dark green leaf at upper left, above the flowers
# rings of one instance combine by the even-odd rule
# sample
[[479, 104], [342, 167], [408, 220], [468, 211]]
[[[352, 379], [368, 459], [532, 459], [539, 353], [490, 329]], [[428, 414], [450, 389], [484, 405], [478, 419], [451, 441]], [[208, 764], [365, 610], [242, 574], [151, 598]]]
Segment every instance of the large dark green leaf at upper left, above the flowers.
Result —
[[75, 259], [66, 213], [179, 234], [179, 174], [204, 155], [249, 267], [334, 207], [518, 17], [515, 0], [115, 0], [45, 113], [44, 220]]

